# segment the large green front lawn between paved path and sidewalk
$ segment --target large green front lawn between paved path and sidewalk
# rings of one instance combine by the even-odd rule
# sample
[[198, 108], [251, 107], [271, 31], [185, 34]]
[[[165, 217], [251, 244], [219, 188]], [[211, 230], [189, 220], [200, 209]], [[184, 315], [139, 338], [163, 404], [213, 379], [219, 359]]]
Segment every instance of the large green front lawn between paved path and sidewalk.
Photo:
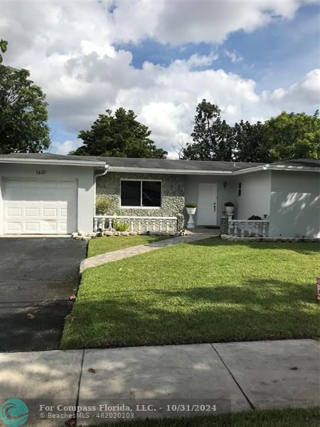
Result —
[[219, 238], [85, 270], [62, 348], [319, 336], [316, 243]]

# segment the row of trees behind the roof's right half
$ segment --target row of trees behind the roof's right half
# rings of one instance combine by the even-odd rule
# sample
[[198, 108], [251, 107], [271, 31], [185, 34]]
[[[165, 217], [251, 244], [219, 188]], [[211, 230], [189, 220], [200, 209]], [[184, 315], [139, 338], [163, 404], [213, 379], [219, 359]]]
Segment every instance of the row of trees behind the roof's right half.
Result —
[[221, 119], [218, 105], [202, 100], [196, 107], [193, 143], [182, 159], [236, 162], [277, 162], [319, 159], [319, 111], [314, 115], [283, 111], [265, 123], [240, 120], [233, 127]]

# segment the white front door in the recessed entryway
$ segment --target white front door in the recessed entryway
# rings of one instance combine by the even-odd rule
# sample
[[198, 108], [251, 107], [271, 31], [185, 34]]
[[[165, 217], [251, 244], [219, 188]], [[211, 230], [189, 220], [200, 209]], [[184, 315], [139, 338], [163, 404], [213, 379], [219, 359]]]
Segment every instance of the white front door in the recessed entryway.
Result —
[[198, 226], [217, 224], [217, 184], [203, 182], [198, 187]]

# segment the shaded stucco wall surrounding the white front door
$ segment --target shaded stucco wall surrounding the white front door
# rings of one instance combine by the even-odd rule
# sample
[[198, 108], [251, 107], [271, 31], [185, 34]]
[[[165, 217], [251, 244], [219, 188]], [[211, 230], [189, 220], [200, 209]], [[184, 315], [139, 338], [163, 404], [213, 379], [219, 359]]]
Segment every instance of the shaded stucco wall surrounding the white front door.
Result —
[[[234, 179], [231, 176], [219, 176], [219, 175], [207, 175], [207, 176], [195, 176], [188, 175], [185, 178], [185, 199], [188, 201], [198, 201], [198, 186], [200, 183], [211, 183], [217, 184], [217, 224], [220, 224], [220, 217], [224, 209], [226, 201], [235, 202], [235, 184]], [[226, 186], [223, 186], [226, 183]], [[197, 213], [194, 216], [194, 222], [198, 224]], [[215, 225], [215, 224], [213, 224]]]

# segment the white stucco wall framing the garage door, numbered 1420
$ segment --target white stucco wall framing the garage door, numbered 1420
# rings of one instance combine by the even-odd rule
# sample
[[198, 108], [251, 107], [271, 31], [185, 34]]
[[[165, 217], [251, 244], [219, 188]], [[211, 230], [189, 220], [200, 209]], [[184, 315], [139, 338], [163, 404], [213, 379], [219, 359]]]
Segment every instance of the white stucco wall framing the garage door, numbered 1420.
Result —
[[[37, 175], [37, 170], [46, 174]], [[93, 167], [52, 166], [39, 164], [0, 164], [0, 234], [3, 233], [3, 194], [1, 181], [6, 177], [33, 179], [76, 179], [78, 182], [77, 230], [92, 232], [95, 208], [95, 177]]]

